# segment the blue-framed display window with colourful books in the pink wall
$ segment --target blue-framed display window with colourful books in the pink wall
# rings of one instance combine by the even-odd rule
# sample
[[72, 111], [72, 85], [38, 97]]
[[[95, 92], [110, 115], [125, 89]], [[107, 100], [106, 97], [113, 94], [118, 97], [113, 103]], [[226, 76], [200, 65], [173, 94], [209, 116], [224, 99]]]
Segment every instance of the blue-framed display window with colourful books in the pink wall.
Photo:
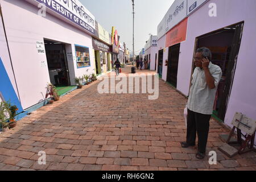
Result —
[[75, 45], [75, 48], [77, 68], [90, 67], [89, 48], [77, 45]]

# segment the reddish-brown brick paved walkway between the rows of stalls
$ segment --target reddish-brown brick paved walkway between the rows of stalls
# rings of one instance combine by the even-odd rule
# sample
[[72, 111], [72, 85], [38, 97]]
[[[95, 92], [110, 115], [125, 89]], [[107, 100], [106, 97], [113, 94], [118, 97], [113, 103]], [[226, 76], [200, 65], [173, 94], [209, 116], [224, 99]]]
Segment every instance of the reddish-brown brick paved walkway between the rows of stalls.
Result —
[[[213, 120], [207, 151], [218, 153], [217, 165], [197, 160], [195, 148], [181, 148], [186, 100], [164, 81], [159, 80], [158, 100], [148, 100], [148, 94], [99, 94], [98, 83], [34, 111], [0, 134], [0, 169], [256, 170], [255, 152], [230, 159], [217, 150], [218, 134], [228, 131]], [[46, 152], [46, 165], [38, 164], [39, 151]]]

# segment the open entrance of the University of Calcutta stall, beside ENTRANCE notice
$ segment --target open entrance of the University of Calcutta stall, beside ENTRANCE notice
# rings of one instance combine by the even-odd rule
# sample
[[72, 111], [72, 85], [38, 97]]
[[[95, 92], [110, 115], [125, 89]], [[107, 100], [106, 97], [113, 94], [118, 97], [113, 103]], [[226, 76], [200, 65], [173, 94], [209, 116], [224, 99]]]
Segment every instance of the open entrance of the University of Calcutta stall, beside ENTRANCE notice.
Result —
[[65, 44], [44, 39], [51, 83], [55, 86], [69, 86], [67, 54]]

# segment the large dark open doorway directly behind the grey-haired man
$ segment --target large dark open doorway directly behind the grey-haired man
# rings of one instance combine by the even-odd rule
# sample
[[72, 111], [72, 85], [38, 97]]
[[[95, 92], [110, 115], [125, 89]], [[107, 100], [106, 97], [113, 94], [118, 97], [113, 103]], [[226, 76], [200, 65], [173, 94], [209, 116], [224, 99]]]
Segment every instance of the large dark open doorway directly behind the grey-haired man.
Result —
[[196, 39], [196, 49], [208, 47], [212, 52], [212, 63], [218, 65], [222, 70], [222, 77], [218, 84], [213, 108], [213, 117], [220, 121], [224, 121], [228, 107], [241, 44], [242, 30], [243, 22], [222, 28]]

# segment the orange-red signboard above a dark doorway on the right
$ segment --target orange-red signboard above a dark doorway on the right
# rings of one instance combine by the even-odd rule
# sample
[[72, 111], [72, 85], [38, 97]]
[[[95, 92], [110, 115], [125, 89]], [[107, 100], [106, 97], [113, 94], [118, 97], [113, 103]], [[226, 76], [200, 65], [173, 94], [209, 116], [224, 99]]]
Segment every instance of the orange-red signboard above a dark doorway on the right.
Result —
[[177, 24], [166, 34], [166, 47], [174, 46], [186, 40], [188, 18]]

